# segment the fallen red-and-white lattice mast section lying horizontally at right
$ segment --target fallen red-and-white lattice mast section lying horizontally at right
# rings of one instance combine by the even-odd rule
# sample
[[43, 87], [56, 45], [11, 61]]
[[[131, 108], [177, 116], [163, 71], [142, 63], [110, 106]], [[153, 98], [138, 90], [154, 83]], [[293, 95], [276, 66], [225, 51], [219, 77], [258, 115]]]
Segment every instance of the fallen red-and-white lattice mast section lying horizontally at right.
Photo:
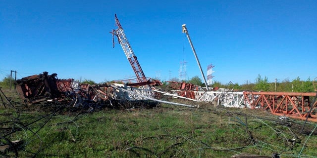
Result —
[[[143, 89], [133, 89], [133, 92], [141, 95], [146, 92], [150, 97], [155, 96], [156, 93], [153, 92], [158, 92], [192, 101], [211, 102], [211, 104], [217, 106], [262, 109], [274, 115], [300, 119], [308, 117], [308, 120], [317, 121], [317, 101], [310, 101], [310, 97], [316, 96], [316, 93], [176, 90], [171, 94], [158, 90]], [[132, 95], [130, 98], [140, 99], [135, 96], [132, 97]]]

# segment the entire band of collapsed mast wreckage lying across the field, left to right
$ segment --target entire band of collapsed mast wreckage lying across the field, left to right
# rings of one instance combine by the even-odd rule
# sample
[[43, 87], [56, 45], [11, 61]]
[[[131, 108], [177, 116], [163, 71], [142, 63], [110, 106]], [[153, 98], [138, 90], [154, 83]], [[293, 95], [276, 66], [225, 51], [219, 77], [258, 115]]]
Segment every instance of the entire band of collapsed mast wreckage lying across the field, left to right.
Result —
[[[156, 80], [148, 83], [159, 85]], [[169, 81], [169, 86], [176, 89], [171, 93], [153, 88], [140, 88], [133, 83], [103, 83], [80, 84], [74, 79], [57, 79], [57, 74], [33, 75], [18, 79], [16, 90], [24, 103], [33, 104], [42, 101], [64, 101], [71, 103], [73, 107], [92, 108], [125, 101], [158, 100], [162, 95], [179, 98], [187, 98], [193, 101], [211, 102], [224, 107], [240, 107], [256, 109], [260, 108], [274, 115], [290, 118], [300, 118], [317, 121], [317, 102], [311, 102], [310, 97], [316, 93], [296, 92], [251, 92], [233, 91], [232, 89], [217, 89], [206, 91], [201, 86], [186, 82]], [[133, 85], [133, 86], [130, 86]], [[149, 85], [149, 86], [150, 86]], [[174, 104], [166, 102], [167, 104]], [[174, 104], [175, 105], [175, 104]], [[184, 106], [184, 105], [182, 105]], [[195, 107], [186, 105], [187, 107]]]

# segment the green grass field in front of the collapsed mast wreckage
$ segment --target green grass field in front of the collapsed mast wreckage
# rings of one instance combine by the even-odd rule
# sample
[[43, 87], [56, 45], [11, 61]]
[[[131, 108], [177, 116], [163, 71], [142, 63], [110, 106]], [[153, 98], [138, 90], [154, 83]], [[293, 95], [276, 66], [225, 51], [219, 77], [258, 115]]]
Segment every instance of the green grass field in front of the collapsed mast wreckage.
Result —
[[[308, 122], [301, 134], [304, 121], [281, 120], [261, 110], [208, 103], [195, 109], [157, 104], [93, 112], [50, 104], [5, 105], [0, 104], [1, 135], [14, 127], [5, 138], [23, 140], [16, 151], [21, 158], [230, 158], [240, 153], [317, 158], [315, 122]], [[8, 151], [0, 157], [15, 155]]]

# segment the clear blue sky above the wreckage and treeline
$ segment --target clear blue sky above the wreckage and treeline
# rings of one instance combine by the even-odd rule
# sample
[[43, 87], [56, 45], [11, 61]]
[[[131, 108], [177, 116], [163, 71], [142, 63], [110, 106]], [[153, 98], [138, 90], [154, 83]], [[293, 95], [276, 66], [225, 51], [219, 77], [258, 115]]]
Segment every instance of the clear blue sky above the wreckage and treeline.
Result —
[[317, 0], [0, 0], [0, 79], [44, 71], [96, 82], [135, 76], [112, 48], [114, 14], [146, 77], [207, 77], [221, 83], [317, 77]]

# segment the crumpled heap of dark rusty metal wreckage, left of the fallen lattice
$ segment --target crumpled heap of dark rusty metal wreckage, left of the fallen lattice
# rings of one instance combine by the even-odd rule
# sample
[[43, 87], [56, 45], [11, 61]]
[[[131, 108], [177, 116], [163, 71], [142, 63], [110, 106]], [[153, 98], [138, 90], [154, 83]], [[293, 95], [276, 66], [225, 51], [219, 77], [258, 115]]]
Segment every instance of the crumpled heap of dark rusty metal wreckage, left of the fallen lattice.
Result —
[[[148, 80], [144, 83], [149, 86], [161, 85], [159, 80]], [[49, 75], [48, 72], [18, 79], [15, 85], [20, 99], [25, 104], [62, 101], [76, 108], [92, 108], [161, 97], [161, 93], [152, 91], [152, 88], [136, 88], [137, 85], [141, 86], [140, 83], [79, 84], [74, 79], [58, 79], [57, 74]]]

